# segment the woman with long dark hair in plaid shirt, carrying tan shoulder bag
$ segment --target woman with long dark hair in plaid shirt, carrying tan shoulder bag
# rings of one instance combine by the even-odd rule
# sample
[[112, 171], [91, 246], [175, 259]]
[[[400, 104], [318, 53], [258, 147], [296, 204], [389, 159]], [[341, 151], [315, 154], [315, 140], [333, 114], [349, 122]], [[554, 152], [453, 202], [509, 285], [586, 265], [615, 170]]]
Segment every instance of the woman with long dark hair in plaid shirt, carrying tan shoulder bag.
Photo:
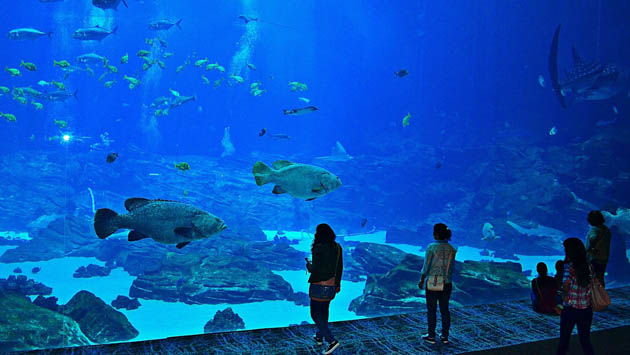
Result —
[[564, 355], [569, 349], [573, 327], [577, 324], [578, 336], [584, 354], [593, 354], [591, 344], [591, 308], [590, 282], [593, 273], [586, 260], [586, 248], [581, 240], [569, 238], [562, 243], [566, 254], [564, 263], [564, 308], [560, 315], [560, 342], [557, 354]]

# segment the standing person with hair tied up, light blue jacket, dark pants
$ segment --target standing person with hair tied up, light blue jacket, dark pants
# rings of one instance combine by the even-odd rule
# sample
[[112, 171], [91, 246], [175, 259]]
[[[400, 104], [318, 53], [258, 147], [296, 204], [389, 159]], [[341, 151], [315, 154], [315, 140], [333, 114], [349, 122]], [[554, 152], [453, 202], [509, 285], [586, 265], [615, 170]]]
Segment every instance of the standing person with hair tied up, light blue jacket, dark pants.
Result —
[[433, 238], [436, 242], [427, 247], [421, 272], [422, 278], [418, 283], [418, 287], [424, 289], [424, 281], [427, 281], [425, 295], [429, 333], [423, 336], [422, 340], [431, 344], [436, 343], [435, 326], [438, 302], [442, 316], [440, 341], [443, 344], [448, 344], [448, 332], [451, 327], [451, 312], [448, 310], [448, 302], [453, 291], [451, 276], [455, 268], [455, 254], [457, 253], [457, 250], [448, 242], [451, 239], [451, 234], [451, 230], [444, 223], [433, 226]]

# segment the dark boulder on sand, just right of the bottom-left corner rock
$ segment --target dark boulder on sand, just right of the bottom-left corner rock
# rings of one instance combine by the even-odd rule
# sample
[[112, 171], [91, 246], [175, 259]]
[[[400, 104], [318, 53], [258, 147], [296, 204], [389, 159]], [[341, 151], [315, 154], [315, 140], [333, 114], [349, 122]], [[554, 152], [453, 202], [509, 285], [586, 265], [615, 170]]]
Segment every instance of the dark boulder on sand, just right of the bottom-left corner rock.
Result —
[[60, 311], [79, 323], [83, 334], [95, 343], [131, 340], [139, 334], [124, 314], [88, 291], [77, 292]]

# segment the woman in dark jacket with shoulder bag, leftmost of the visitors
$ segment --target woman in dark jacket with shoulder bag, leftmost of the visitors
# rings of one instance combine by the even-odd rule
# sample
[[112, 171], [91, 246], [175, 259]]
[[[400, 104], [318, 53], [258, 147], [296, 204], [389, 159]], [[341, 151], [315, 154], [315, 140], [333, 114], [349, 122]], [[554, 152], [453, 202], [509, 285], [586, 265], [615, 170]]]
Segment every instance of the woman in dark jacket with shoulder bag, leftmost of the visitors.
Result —
[[343, 273], [343, 253], [341, 246], [335, 242], [335, 232], [327, 224], [317, 226], [311, 252], [313, 261], [306, 267], [311, 273], [308, 279], [311, 297], [311, 317], [317, 325], [315, 342], [321, 345], [325, 338], [328, 348], [323, 352], [330, 354], [339, 347], [339, 342], [328, 328], [328, 309], [330, 301], [341, 290], [341, 275]]

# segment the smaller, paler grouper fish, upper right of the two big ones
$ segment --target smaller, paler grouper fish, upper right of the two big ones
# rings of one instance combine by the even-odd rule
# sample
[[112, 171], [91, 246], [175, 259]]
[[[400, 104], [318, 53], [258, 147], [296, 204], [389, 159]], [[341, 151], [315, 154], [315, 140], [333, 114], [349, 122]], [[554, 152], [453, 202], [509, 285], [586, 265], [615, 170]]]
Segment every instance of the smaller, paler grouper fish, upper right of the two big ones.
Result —
[[312, 201], [341, 186], [341, 180], [326, 169], [292, 163], [288, 160], [274, 162], [273, 168], [263, 162], [254, 164], [256, 185], [274, 183], [274, 194], [284, 194]]

